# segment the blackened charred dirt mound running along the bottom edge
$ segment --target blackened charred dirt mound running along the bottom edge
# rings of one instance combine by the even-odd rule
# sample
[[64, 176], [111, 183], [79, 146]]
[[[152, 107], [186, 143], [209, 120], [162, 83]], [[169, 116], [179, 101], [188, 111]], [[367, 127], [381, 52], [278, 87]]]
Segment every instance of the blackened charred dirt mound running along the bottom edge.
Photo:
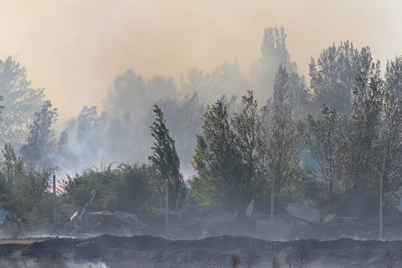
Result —
[[347, 238], [267, 241], [228, 235], [199, 240], [169, 240], [149, 235], [55, 238], [28, 245], [2, 244], [0, 254], [8, 266], [18, 260], [31, 260], [31, 267], [75, 267], [76, 264], [84, 267], [90, 262], [101, 262], [108, 267], [206, 267], [207, 262], [212, 262], [228, 267], [232, 254], [238, 254], [240, 263], [246, 264], [250, 252], [256, 250], [259, 267], [271, 266], [273, 256], [284, 267], [285, 256], [290, 254], [294, 258], [294, 252], [305, 246], [310, 254], [310, 267], [382, 267], [381, 254], [386, 243], [399, 254], [402, 241]]

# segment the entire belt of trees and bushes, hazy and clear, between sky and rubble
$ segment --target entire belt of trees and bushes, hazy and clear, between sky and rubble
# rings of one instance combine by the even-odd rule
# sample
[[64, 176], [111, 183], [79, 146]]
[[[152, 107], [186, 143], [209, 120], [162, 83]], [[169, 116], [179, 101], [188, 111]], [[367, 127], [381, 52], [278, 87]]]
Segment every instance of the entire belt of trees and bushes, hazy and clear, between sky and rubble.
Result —
[[[162, 211], [167, 185], [170, 209], [195, 203], [219, 214], [257, 198], [266, 210], [275, 176], [277, 213], [301, 202], [362, 216], [378, 208], [383, 176], [384, 205], [398, 205], [402, 56], [386, 63], [382, 78], [369, 47], [341, 42], [312, 57], [308, 87], [285, 39], [283, 29], [265, 31], [250, 81], [237, 60], [211, 74], [189, 71], [180, 79], [180, 92], [188, 94], [181, 98], [172, 79], [144, 82], [128, 70], [116, 78], [103, 113], [84, 106], [58, 138], [57, 108], [43, 89], [29, 88], [26, 70], [10, 57], [0, 61], [0, 194], [36, 217], [51, 208], [51, 175], [84, 163], [89, 167], [60, 182], [59, 203], [84, 206], [98, 188], [104, 209], [145, 215]], [[245, 94], [240, 102], [237, 94]], [[120, 164], [91, 166], [116, 155], [112, 161]], [[120, 162], [144, 155], [148, 163]], [[195, 174], [185, 182], [180, 170], [190, 166]]]

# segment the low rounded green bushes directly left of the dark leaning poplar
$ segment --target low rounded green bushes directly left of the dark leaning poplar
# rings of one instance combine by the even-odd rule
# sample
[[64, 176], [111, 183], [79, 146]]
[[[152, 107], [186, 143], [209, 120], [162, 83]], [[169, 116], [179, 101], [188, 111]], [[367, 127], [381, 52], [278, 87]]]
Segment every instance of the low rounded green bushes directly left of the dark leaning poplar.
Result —
[[81, 207], [88, 203], [95, 188], [99, 190], [99, 204], [105, 210], [146, 215], [163, 207], [164, 190], [152, 166], [146, 164], [85, 168], [81, 174], [67, 176], [61, 187], [67, 200]]

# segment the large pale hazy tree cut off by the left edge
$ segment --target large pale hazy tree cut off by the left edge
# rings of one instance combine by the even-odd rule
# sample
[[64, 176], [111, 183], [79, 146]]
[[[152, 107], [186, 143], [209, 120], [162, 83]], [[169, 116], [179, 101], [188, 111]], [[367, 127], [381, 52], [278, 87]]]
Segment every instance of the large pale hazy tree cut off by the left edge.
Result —
[[14, 148], [21, 148], [32, 124], [32, 115], [42, 104], [43, 88], [29, 88], [27, 70], [8, 57], [0, 60], [0, 92], [2, 92], [3, 113], [0, 122], [0, 143], [10, 142]]

